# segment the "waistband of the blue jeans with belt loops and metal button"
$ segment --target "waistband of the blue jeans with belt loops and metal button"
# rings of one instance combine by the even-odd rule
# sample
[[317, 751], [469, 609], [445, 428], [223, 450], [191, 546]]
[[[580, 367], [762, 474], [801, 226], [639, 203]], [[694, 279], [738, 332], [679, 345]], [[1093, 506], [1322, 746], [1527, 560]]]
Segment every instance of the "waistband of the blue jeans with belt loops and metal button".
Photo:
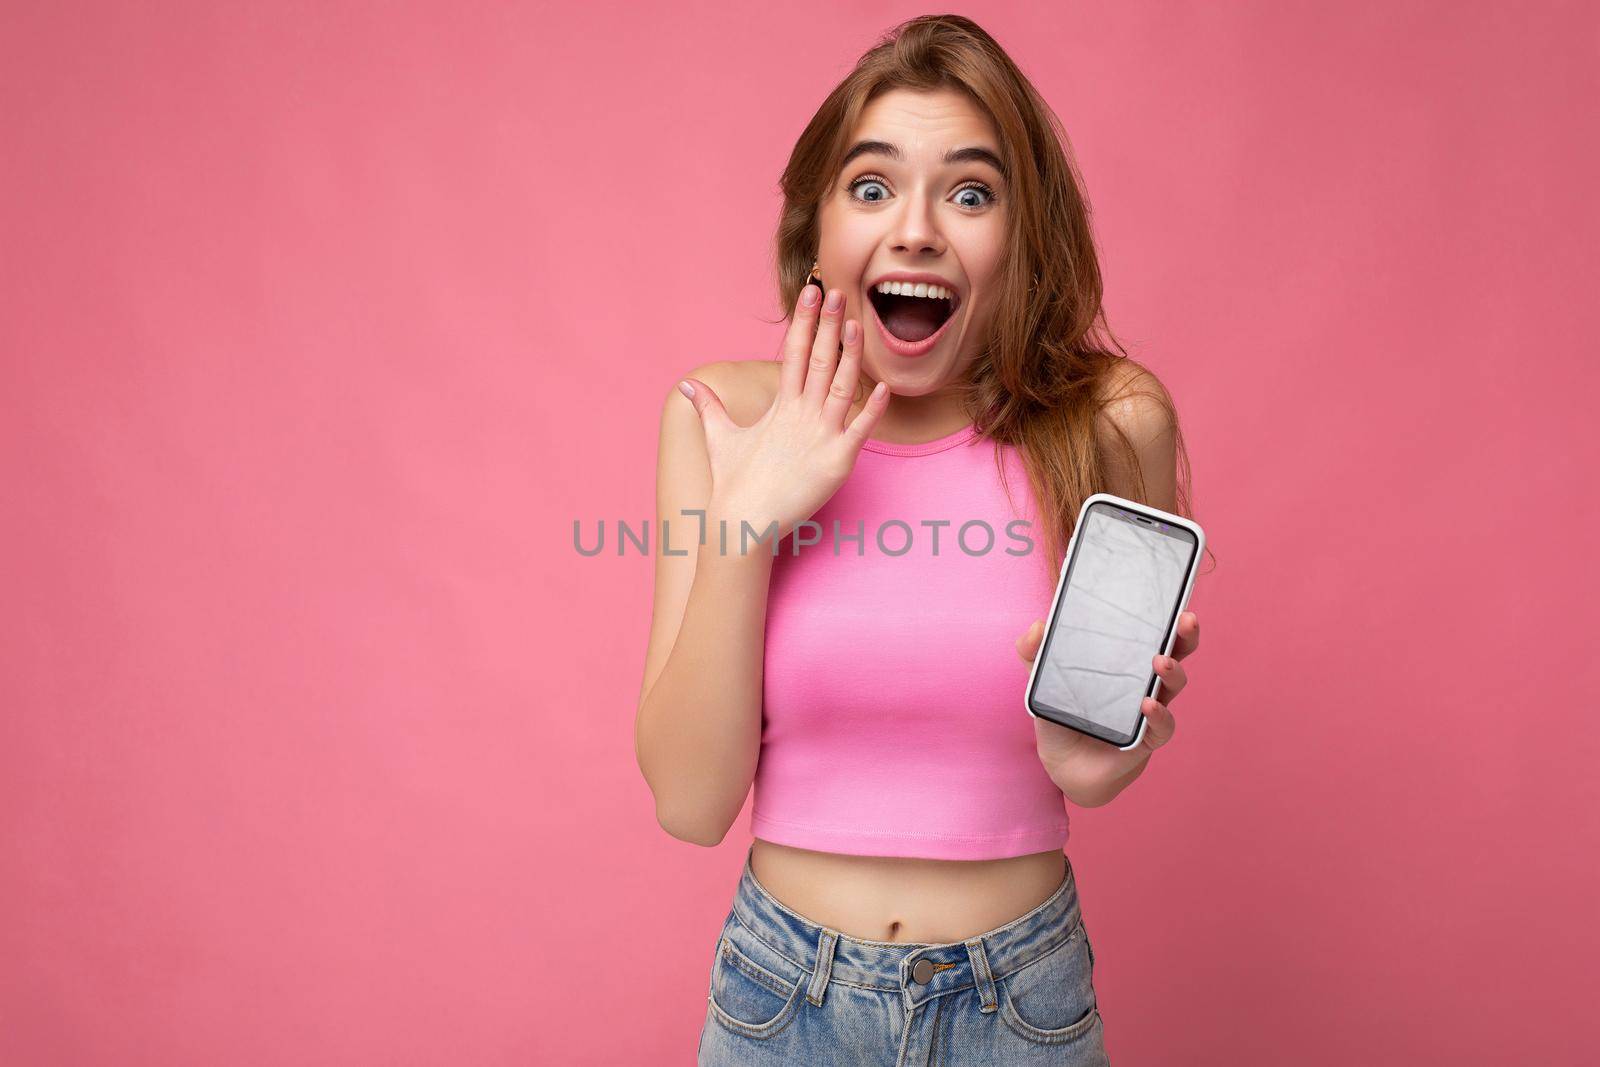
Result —
[[[733, 897], [733, 917], [774, 952], [811, 973], [806, 1000], [822, 1003], [829, 982], [843, 982], [882, 992], [899, 990], [907, 1008], [934, 997], [978, 987], [979, 1009], [994, 1011], [995, 979], [1018, 971], [1053, 952], [1078, 928], [1078, 893], [1072, 861], [1066, 861], [1061, 885], [1043, 904], [1003, 926], [965, 941], [944, 944], [910, 941], [866, 941], [814, 923], [789, 910], [755, 880], [750, 856]], [[922, 960], [928, 963], [918, 966]]]

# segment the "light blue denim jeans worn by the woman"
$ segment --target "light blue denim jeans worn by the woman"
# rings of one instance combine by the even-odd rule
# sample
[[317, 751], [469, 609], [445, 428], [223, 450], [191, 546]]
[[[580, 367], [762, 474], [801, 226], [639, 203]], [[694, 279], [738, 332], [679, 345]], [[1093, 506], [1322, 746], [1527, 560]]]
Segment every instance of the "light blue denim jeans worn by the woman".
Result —
[[1067, 861], [1048, 901], [949, 944], [862, 941], [779, 904], [750, 870], [712, 961], [699, 1064], [1107, 1065]]

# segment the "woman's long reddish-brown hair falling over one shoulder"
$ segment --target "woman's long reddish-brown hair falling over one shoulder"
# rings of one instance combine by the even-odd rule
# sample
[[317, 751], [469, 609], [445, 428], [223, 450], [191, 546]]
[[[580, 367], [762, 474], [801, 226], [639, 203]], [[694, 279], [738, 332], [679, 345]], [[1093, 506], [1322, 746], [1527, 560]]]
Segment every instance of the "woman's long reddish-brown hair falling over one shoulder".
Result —
[[[894, 88], [962, 91], [989, 115], [1000, 138], [1010, 190], [1000, 304], [992, 333], [955, 389], [978, 429], [1021, 454], [1043, 523], [1043, 558], [1054, 574], [1085, 498], [1106, 491], [1114, 472], [1118, 482], [1131, 478], [1139, 486], [1138, 499], [1144, 499], [1144, 472], [1133, 443], [1114, 421], [1101, 418], [1109, 405], [1136, 395], [1134, 386], [1117, 382], [1134, 381], [1130, 371], [1144, 368], [1106, 323], [1090, 205], [1061, 122], [976, 22], [958, 14], [902, 22], [856, 62], [811, 117], [781, 181], [779, 307], [795, 306], [811, 272], [818, 213], [862, 110]], [[1165, 408], [1171, 419], [1179, 456], [1178, 512], [1190, 515], [1189, 453], [1178, 411], [1160, 387], [1139, 395]], [[1098, 426], [1114, 430], [1110, 446], [1102, 443]]]

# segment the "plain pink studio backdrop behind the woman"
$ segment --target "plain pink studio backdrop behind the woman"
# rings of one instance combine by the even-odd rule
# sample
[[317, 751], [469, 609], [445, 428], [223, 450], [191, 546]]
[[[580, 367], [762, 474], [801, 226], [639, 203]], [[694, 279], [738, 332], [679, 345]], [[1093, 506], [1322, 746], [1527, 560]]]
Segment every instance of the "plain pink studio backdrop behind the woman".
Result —
[[[907, 5], [0, 10], [0, 1061], [691, 1062], [661, 402]], [[1069, 853], [1117, 1064], [1600, 1056], [1587, 3], [965, 6], [1219, 566]], [[592, 528], [592, 526], [587, 526]]]

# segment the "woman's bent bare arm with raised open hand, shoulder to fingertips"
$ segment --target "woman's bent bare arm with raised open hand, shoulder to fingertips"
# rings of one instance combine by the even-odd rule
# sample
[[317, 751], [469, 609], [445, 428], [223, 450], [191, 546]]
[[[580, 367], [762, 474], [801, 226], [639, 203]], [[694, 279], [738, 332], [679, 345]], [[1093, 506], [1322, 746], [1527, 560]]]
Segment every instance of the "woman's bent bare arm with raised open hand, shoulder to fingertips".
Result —
[[[709, 363], [688, 379], [693, 402], [674, 382], [661, 413], [658, 528], [661, 520], [674, 523], [682, 531], [675, 544], [694, 549], [656, 560], [634, 745], [656, 798], [656, 821], [696, 845], [722, 841], [755, 781], [773, 544], [843, 485], [888, 406], [880, 382], [850, 416], [861, 325], [842, 322], [842, 293], [830, 294], [832, 309], [818, 307], [814, 293], [806, 286], [797, 301], [776, 395], [752, 398], [760, 390], [739, 389], [749, 366]], [[722, 395], [747, 418], [730, 418]], [[685, 509], [706, 509], [704, 545], [701, 526], [680, 514]], [[774, 525], [770, 539], [749, 552], [741, 550], [746, 522], [758, 534]]]

